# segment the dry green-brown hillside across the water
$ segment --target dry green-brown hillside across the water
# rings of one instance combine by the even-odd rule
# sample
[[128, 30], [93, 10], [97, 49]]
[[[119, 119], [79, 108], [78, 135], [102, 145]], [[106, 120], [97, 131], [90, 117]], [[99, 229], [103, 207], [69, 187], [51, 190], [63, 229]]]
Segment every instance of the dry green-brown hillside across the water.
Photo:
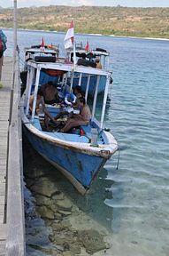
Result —
[[[19, 8], [18, 27], [76, 33], [169, 38], [169, 8], [46, 6]], [[12, 9], [0, 10], [0, 27], [12, 28]]]

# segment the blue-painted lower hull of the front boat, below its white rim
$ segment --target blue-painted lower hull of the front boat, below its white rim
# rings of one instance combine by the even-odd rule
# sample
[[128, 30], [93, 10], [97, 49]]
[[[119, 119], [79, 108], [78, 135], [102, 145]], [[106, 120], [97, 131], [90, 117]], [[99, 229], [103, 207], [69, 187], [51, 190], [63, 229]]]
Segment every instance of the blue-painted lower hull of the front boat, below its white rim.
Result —
[[[54, 164], [69, 180], [76, 180], [86, 190], [90, 187], [96, 173], [103, 168], [107, 159], [101, 156], [90, 156], [70, 148], [64, 148], [56, 143], [44, 140], [30, 132], [24, 125], [24, 133], [33, 148]], [[74, 182], [72, 182], [74, 183]], [[76, 183], [76, 182], [75, 182]], [[74, 184], [73, 184], [74, 185]]]

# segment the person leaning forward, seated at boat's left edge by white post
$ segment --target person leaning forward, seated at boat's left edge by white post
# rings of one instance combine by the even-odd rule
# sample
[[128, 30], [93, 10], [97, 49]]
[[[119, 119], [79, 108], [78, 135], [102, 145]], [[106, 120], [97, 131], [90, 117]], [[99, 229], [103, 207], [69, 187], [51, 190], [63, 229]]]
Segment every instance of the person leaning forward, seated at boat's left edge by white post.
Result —
[[[32, 113], [32, 111], [33, 111], [34, 100], [35, 100], [35, 95], [33, 94], [30, 96], [30, 100], [29, 100], [30, 113]], [[42, 114], [42, 113], [40, 113], [41, 111], [44, 114], [45, 128], [46, 128], [46, 130], [49, 130], [49, 119], [52, 120], [53, 122], [55, 122], [55, 120], [54, 120], [53, 116], [50, 116], [50, 113], [47, 111], [47, 109], [45, 107], [44, 99], [43, 99], [42, 90], [39, 89], [37, 92], [37, 98], [36, 98], [35, 114], [39, 116], [39, 114]]]

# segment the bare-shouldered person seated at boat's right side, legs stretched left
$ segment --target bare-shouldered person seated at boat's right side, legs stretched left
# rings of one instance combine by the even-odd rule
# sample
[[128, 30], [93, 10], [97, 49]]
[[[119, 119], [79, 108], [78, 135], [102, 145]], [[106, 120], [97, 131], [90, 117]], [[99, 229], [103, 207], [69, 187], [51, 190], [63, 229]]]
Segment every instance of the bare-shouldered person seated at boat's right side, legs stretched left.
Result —
[[80, 110], [80, 114], [73, 114], [71, 118], [69, 118], [65, 126], [60, 130], [60, 132], [69, 132], [72, 128], [81, 126], [81, 125], [88, 125], [91, 113], [88, 105], [86, 104], [86, 100], [81, 97], [78, 99], [77, 102], [78, 108]]

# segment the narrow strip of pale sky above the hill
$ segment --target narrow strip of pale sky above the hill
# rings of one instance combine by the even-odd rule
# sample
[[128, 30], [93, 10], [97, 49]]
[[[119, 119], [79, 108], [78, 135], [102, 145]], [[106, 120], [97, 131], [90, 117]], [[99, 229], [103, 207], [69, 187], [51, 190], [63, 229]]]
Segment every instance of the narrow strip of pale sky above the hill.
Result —
[[[128, 7], [169, 7], [169, 0], [18, 0], [18, 7], [47, 6], [47, 5], [100, 5]], [[13, 0], [0, 0], [3, 8], [12, 7]]]

